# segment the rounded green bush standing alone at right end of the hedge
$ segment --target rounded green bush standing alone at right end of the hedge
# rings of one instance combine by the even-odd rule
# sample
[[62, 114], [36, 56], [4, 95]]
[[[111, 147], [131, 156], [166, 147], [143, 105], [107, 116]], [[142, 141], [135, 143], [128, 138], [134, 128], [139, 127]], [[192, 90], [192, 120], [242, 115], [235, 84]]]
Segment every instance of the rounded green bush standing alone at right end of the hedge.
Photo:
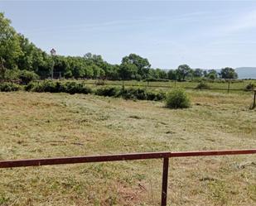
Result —
[[167, 108], [189, 108], [190, 99], [182, 89], [174, 89], [167, 93]]

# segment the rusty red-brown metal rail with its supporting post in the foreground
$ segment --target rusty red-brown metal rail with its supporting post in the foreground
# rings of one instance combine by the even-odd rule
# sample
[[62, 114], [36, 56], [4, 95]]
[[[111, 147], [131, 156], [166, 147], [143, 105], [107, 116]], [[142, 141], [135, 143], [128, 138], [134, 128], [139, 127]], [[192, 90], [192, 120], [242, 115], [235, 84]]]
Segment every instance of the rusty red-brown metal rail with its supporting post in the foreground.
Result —
[[92, 163], [104, 161], [119, 161], [119, 160], [148, 160], [148, 159], [163, 159], [162, 168], [162, 206], [167, 205], [167, 180], [169, 158], [172, 157], [188, 157], [188, 156], [233, 156], [233, 155], [249, 155], [256, 154], [256, 149], [251, 150], [231, 150], [231, 151], [181, 151], [181, 152], [146, 152], [132, 154], [118, 154], [105, 156], [75, 156], [75, 157], [59, 157], [45, 159], [30, 159], [30, 160], [1, 160], [0, 168], [26, 167], [26, 166], [41, 166], [41, 165], [63, 165], [76, 163]]

